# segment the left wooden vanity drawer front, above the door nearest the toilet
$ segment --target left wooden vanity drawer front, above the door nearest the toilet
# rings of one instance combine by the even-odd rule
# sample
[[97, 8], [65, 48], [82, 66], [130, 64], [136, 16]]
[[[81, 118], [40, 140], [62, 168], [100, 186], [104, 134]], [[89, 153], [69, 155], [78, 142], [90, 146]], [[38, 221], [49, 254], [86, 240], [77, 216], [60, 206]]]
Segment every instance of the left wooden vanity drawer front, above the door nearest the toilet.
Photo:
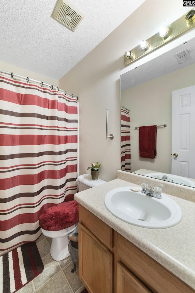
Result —
[[108, 248], [113, 247], [113, 229], [79, 204], [79, 222]]

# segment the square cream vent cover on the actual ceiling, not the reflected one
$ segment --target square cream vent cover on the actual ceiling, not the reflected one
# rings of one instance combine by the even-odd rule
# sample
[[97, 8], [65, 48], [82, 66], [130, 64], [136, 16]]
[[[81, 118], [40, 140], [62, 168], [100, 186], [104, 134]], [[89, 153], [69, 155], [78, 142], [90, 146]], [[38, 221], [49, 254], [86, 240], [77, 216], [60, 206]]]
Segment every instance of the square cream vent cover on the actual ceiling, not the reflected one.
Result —
[[58, 0], [51, 17], [69, 28], [71, 31], [75, 31], [84, 16], [85, 14], [70, 1]]

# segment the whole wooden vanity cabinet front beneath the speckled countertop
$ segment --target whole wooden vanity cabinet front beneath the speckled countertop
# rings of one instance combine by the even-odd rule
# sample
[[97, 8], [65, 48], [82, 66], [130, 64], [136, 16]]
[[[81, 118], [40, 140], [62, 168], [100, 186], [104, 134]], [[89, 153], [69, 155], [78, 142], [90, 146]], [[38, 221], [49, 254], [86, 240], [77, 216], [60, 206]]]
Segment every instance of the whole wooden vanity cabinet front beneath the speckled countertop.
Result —
[[79, 277], [89, 293], [195, 293], [80, 204]]

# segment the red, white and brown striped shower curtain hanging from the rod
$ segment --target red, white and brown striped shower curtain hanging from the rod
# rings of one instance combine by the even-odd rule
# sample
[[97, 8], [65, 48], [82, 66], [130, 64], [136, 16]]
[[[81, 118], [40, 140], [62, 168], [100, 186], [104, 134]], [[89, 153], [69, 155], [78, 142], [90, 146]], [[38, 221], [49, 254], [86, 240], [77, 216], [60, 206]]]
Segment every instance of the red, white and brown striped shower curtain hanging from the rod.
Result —
[[0, 76], [0, 249], [40, 235], [39, 216], [76, 193], [77, 102]]

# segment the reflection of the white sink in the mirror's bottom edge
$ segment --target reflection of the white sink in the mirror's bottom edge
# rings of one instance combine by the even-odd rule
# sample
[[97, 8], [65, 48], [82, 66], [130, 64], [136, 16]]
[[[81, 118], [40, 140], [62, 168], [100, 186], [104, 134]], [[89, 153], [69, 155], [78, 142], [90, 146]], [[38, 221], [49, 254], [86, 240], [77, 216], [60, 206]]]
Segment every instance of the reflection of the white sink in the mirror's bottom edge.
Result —
[[190, 180], [186, 177], [182, 177], [182, 176], [166, 174], [166, 173], [147, 173], [144, 176], [153, 177], [153, 178], [159, 177], [158, 179], [161, 179], [163, 175], [167, 176], [167, 179], [165, 181], [172, 180], [173, 183], [178, 183], [178, 184], [182, 184], [182, 185], [186, 185], [186, 186], [195, 187], [195, 182], [193, 182], [192, 180]]

